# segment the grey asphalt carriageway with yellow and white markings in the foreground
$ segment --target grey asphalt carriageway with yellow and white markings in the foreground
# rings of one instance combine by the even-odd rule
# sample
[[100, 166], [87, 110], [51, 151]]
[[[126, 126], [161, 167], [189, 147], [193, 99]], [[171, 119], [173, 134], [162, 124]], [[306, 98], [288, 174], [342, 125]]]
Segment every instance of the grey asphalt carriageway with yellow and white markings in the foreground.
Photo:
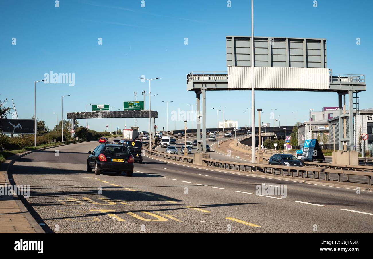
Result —
[[[357, 194], [347, 188], [197, 169], [149, 157], [135, 163], [133, 177], [95, 175], [85, 169], [87, 152], [97, 145], [39, 150], [13, 165], [9, 178], [30, 185], [26, 207], [45, 224], [47, 233], [373, 231], [372, 191]], [[286, 187], [286, 197], [256, 193], [263, 183]]]

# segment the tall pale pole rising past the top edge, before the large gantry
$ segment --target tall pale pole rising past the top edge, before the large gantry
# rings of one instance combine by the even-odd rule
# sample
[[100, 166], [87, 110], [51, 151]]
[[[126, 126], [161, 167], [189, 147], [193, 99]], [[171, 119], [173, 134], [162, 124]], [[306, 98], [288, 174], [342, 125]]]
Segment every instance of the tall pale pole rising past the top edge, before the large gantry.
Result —
[[[255, 163], [255, 97], [254, 97], [254, 0], [251, 0], [251, 127], [253, 127], [254, 137], [251, 137], [251, 147], [253, 152], [251, 156], [251, 162]], [[260, 130], [260, 128], [259, 128]]]

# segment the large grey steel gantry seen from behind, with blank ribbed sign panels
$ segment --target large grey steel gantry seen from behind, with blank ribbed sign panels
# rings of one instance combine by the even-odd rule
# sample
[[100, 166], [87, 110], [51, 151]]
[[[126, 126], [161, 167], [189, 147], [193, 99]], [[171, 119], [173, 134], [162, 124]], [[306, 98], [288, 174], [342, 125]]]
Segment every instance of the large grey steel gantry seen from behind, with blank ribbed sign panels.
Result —
[[[197, 110], [203, 124], [203, 140], [197, 134], [197, 149], [206, 152], [206, 91], [251, 90], [252, 37], [226, 37], [226, 72], [192, 72], [186, 77], [186, 89], [195, 91]], [[327, 68], [326, 39], [254, 37], [254, 90], [257, 91], [320, 91], [338, 94], [339, 121], [349, 116], [353, 131], [354, 93], [366, 90], [365, 76], [333, 74]], [[342, 97], [349, 95], [349, 113], [342, 114]], [[355, 99], [355, 100], [354, 100]], [[197, 124], [197, 132], [200, 130]], [[341, 129], [340, 129], [341, 130]], [[342, 132], [340, 132], [342, 135]], [[340, 139], [343, 143], [350, 139]], [[203, 144], [203, 149], [200, 145]], [[342, 144], [340, 150], [342, 150]], [[351, 138], [350, 150], [354, 150]]]

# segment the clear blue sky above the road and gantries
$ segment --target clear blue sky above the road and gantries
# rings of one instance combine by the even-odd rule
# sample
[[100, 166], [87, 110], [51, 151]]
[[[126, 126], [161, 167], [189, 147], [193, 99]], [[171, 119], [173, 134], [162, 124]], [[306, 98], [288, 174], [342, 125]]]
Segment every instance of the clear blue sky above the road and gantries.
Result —
[[[229, 8], [226, 0], [145, 0], [144, 8], [141, 0], [60, 0], [58, 8], [54, 5], [54, 0], [0, 2], [0, 100], [8, 98], [11, 106], [13, 99], [19, 118], [34, 114], [34, 81], [49, 71], [75, 73], [73, 87], [37, 84], [37, 117], [50, 128], [56, 122], [53, 112], [61, 116], [61, 96], [70, 94], [64, 98], [64, 118], [89, 103], [118, 110], [123, 101], [134, 100], [134, 91], [143, 100], [148, 83], [138, 79], [141, 75], [162, 77], [152, 82], [152, 94], [158, 96], [151, 108], [159, 112], [156, 124], [166, 128], [162, 101], [174, 101], [169, 113], [195, 104], [195, 94], [186, 91], [186, 74], [226, 71], [225, 36], [251, 34], [250, 0], [232, 0]], [[360, 94], [360, 109], [371, 108], [372, 7], [373, 1], [319, 0], [315, 8], [313, 0], [256, 0], [254, 35], [326, 38], [327, 67], [335, 73], [365, 74], [367, 91]], [[228, 106], [225, 119], [238, 121], [239, 127], [248, 124], [244, 110], [251, 107], [250, 91], [208, 92], [206, 100], [207, 127], [216, 127], [216, 111], [210, 107], [218, 106]], [[271, 109], [277, 109], [282, 125], [283, 118], [292, 125], [292, 111], [297, 111], [295, 121], [303, 122], [310, 108], [337, 105], [335, 93], [256, 91], [263, 122]], [[106, 124], [111, 127], [110, 119], [88, 124], [99, 131]], [[177, 121], [176, 128], [183, 124]], [[148, 121], [138, 119], [138, 125], [145, 130]], [[127, 119], [127, 126], [133, 126], [133, 119]], [[113, 119], [116, 127], [123, 128], [124, 119]]]

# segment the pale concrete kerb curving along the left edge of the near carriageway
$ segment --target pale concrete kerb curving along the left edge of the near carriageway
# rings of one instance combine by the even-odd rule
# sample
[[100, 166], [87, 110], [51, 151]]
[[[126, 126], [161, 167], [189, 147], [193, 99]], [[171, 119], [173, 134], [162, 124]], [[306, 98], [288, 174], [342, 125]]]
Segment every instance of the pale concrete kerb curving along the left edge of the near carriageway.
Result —
[[[1, 164], [1, 167], [6, 166], [6, 169], [4, 171], [5, 181], [10, 183], [9, 177], [8, 177], [9, 169], [11, 168], [11, 166], [13, 166], [13, 164], [16, 162], [17, 159], [19, 159], [19, 158], [21, 158], [25, 155], [28, 155], [28, 154], [33, 153], [33, 152], [38, 151], [38, 150], [51, 149], [53, 147], [61, 147], [61, 146], [66, 146], [66, 145], [71, 145], [71, 144], [76, 144], [76, 143], [90, 142], [90, 141], [91, 140], [61, 144], [61, 145], [50, 146], [50, 147], [43, 147], [41, 149], [35, 149], [35, 150], [27, 151], [27, 152], [24, 152], [24, 153], [18, 153], [18, 154], [15, 154], [13, 156], [10, 156], [5, 160], [4, 163]], [[18, 197], [17, 194], [13, 195], [13, 199], [15, 200], [16, 204], [18, 205], [19, 210], [21, 210], [23, 216], [25, 216], [25, 218], [27, 219], [29, 224], [34, 228], [35, 232], [38, 233], [38, 234], [45, 234], [45, 231], [43, 230], [43, 228], [38, 224], [38, 222], [34, 219], [34, 217], [31, 215], [31, 213], [26, 209], [25, 205], [22, 203], [21, 199]]]

